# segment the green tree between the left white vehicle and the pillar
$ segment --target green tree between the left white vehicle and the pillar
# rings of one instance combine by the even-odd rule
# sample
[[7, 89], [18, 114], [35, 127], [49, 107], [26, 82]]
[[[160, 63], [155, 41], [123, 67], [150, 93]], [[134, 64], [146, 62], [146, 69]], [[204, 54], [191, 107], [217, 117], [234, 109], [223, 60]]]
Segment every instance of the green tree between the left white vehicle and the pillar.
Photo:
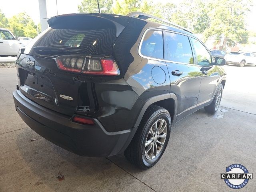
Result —
[[9, 20], [9, 29], [15, 36], [34, 38], [37, 36], [36, 25], [25, 12], [14, 15]]

